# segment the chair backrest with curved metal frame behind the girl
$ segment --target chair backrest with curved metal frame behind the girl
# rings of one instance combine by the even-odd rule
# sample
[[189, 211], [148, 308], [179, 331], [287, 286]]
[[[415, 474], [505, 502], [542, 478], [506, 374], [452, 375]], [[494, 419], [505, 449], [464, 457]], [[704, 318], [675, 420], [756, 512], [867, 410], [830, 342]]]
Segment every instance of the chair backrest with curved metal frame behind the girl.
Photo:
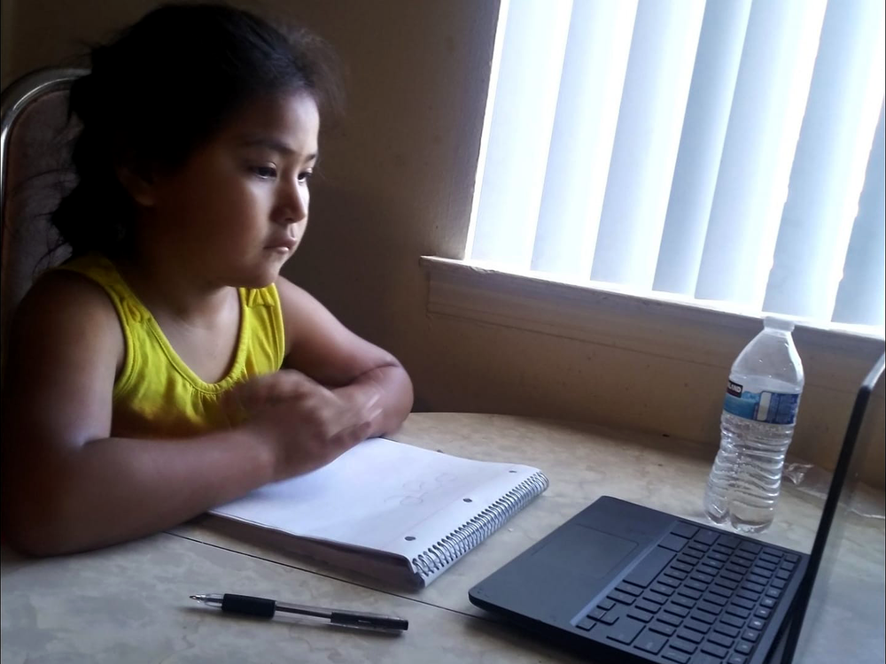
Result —
[[80, 69], [27, 74], [0, 97], [0, 357], [5, 365], [12, 315], [35, 275], [57, 265], [50, 214], [76, 182], [71, 149], [80, 127], [67, 97]]

